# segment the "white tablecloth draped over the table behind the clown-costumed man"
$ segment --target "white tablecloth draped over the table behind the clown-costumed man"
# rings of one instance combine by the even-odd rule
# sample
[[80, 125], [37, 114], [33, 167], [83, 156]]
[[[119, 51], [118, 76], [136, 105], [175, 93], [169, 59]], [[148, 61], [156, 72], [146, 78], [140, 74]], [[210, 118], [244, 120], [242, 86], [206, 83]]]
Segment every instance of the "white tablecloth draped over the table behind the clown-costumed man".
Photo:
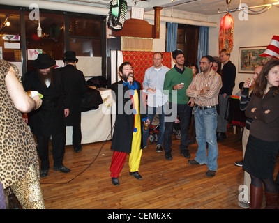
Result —
[[[112, 139], [111, 109], [112, 90], [99, 89], [103, 104], [98, 109], [82, 112], [82, 144]], [[66, 127], [66, 145], [72, 144], [73, 130], [71, 126]]]

